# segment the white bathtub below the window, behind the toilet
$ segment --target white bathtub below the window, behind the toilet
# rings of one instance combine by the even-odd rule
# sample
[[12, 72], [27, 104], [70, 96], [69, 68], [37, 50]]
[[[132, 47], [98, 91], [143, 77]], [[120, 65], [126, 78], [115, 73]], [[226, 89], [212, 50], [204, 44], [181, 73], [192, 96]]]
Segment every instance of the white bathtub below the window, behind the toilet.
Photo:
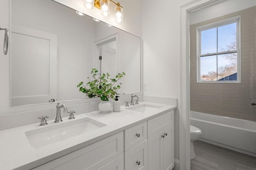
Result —
[[190, 124], [201, 129], [200, 141], [256, 156], [256, 122], [190, 111]]

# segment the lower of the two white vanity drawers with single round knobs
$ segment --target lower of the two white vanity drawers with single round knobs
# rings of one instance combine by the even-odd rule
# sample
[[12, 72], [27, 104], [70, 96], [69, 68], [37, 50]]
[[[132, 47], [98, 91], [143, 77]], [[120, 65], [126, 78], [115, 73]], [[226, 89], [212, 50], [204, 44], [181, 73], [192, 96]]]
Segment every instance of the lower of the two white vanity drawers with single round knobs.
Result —
[[148, 170], [148, 140], [124, 152], [124, 170]]

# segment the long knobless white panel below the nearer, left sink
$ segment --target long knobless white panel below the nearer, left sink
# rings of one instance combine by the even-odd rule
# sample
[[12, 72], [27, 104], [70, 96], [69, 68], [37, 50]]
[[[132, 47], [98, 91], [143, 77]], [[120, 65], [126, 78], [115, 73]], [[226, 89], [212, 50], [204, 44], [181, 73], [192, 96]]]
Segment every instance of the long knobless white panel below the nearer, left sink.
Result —
[[66, 154], [33, 170], [96, 170], [124, 152], [123, 132]]

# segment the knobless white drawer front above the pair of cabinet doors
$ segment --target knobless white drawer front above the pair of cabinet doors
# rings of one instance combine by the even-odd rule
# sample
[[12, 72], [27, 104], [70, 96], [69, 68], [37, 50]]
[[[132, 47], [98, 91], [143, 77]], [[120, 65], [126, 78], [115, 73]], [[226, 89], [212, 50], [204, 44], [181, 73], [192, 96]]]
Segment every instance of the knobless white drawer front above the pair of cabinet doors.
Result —
[[173, 123], [173, 113], [173, 110], [168, 111], [167, 113], [148, 120], [148, 137], [151, 137], [170, 123]]

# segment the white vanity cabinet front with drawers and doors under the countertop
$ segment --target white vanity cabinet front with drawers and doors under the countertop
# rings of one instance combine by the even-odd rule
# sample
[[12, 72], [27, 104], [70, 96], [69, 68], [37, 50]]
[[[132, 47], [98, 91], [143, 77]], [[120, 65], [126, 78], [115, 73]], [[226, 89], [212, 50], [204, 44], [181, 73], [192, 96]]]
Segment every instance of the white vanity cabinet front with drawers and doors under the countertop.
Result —
[[171, 170], [173, 114], [168, 111], [33, 170]]

